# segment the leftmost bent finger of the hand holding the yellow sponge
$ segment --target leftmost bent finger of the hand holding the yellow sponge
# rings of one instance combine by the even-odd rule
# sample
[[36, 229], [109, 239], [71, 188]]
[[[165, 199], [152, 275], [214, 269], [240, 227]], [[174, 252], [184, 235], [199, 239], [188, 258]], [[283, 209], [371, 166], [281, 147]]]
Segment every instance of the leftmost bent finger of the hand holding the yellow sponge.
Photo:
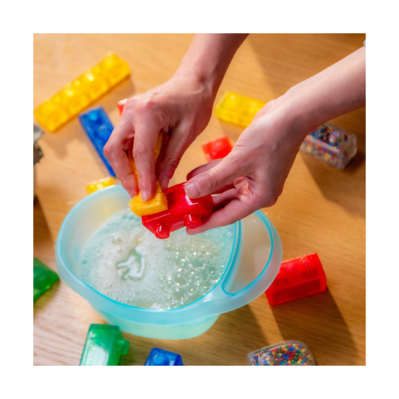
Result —
[[123, 188], [129, 193], [130, 197], [138, 194], [138, 185], [133, 176], [126, 150], [133, 142], [134, 130], [130, 123], [124, 121], [119, 123], [109, 137], [104, 146], [104, 155], [109, 160], [109, 164], [121, 180]]

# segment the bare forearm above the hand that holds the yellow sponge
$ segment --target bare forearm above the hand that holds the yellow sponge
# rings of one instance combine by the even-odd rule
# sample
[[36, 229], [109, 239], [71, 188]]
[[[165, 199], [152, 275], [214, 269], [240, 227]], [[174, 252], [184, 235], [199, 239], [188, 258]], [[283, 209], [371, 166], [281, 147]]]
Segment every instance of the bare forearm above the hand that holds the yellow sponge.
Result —
[[215, 97], [235, 51], [248, 33], [197, 33], [175, 75], [192, 75]]

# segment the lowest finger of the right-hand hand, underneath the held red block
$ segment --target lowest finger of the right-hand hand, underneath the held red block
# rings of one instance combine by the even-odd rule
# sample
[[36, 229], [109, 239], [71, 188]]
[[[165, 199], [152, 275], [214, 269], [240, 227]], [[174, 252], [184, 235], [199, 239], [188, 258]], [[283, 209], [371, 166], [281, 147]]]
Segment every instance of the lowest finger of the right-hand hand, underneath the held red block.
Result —
[[211, 214], [211, 217], [202, 226], [197, 228], [188, 228], [189, 235], [195, 235], [210, 230], [211, 228], [228, 226], [240, 219], [252, 214], [257, 207], [254, 204], [244, 204], [238, 198], [228, 202], [228, 204]]

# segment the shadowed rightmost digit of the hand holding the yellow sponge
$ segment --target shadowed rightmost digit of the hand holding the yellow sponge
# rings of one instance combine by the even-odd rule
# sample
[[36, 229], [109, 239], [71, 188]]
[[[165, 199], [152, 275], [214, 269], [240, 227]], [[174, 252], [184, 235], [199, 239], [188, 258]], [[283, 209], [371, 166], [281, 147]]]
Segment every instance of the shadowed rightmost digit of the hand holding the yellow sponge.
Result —
[[173, 129], [159, 155], [159, 160], [156, 163], [156, 175], [159, 177], [159, 184], [164, 191], [168, 188], [169, 180], [173, 177], [183, 154], [192, 143], [187, 133], [188, 128], [185, 128], [184, 125], [179, 125]]

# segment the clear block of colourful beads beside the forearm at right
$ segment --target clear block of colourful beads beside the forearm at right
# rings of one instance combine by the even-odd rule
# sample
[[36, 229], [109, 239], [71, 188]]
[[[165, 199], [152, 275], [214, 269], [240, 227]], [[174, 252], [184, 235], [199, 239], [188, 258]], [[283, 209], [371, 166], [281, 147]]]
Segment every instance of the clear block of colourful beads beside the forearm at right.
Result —
[[357, 137], [332, 123], [324, 123], [307, 135], [300, 149], [343, 169], [357, 153]]

